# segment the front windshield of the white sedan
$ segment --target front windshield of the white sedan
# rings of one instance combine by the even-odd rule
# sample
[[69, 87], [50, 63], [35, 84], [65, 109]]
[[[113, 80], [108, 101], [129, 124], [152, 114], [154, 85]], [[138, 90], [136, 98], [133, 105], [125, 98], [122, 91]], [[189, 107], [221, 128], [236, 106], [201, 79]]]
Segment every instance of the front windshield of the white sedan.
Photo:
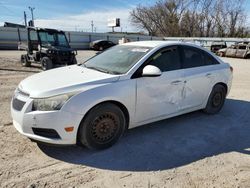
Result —
[[120, 45], [89, 59], [83, 66], [110, 74], [124, 74], [151, 48]]

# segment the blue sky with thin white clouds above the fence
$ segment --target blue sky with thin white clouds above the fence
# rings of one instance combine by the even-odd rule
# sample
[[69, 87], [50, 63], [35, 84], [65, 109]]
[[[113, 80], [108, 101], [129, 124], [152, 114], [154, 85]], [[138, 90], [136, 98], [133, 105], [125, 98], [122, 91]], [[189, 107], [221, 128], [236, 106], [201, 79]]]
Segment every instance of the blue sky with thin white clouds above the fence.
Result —
[[[137, 31], [129, 22], [129, 12], [137, 5], [151, 5], [157, 0], [0, 0], [0, 26], [3, 22], [23, 24], [23, 11], [31, 19], [29, 6], [35, 7], [35, 25], [63, 30], [91, 31], [91, 20], [97, 32], [111, 31], [109, 18], [120, 18], [123, 31]], [[246, 0], [247, 13], [250, 0]], [[248, 15], [250, 24], [250, 15]], [[121, 28], [116, 28], [121, 31]]]

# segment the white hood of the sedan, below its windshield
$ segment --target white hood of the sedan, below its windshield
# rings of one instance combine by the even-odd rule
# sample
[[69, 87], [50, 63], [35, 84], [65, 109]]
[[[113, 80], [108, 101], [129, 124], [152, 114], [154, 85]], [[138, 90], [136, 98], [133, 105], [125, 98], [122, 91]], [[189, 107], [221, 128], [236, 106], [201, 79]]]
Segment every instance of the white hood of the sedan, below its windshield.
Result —
[[87, 90], [118, 79], [119, 75], [72, 65], [32, 75], [21, 81], [18, 88], [32, 98], [45, 98]]

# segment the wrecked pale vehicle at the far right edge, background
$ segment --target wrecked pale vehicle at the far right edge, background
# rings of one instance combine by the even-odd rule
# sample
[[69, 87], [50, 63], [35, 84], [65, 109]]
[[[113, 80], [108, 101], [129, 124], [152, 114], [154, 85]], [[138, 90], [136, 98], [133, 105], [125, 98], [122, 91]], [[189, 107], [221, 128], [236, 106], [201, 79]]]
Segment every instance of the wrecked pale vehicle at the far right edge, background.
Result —
[[216, 54], [221, 57], [250, 58], [250, 45], [246, 43], [238, 43], [228, 48], [220, 49]]

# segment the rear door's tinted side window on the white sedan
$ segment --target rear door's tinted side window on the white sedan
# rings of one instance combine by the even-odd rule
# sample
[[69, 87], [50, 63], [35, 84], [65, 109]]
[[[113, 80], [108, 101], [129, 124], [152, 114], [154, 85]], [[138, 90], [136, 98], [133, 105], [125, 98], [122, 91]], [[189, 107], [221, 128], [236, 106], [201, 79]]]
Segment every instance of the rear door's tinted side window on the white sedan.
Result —
[[192, 47], [183, 47], [183, 68], [193, 68], [204, 66], [204, 60], [202, 51], [192, 48]]

